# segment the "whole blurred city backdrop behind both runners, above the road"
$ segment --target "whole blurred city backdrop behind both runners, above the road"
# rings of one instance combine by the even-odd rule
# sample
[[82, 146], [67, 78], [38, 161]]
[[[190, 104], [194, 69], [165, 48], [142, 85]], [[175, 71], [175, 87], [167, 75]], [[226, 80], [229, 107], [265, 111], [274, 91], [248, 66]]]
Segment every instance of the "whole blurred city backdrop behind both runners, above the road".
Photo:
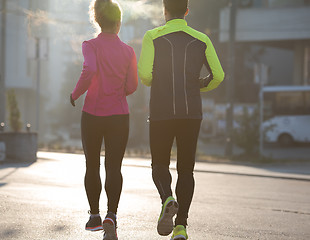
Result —
[[[162, 1], [118, 2], [119, 36], [139, 58], [144, 33], [164, 24]], [[90, 0], [0, 3], [1, 131], [37, 132], [40, 149], [81, 150], [83, 99], [73, 108], [69, 95], [81, 44], [95, 36]], [[293, 157], [308, 157], [310, 1], [190, 0], [189, 8], [188, 24], [211, 38], [226, 72], [218, 89], [202, 94], [198, 153], [281, 158], [293, 149]], [[147, 153], [149, 88], [140, 84], [128, 101], [128, 151]]]

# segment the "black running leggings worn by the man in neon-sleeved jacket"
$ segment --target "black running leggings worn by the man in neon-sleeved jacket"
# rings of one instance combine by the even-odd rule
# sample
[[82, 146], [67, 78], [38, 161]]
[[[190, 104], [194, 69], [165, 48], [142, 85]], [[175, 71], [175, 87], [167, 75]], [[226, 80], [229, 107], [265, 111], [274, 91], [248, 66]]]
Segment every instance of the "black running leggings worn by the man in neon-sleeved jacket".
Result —
[[176, 196], [179, 203], [176, 225], [187, 225], [188, 212], [194, 194], [193, 171], [200, 125], [200, 119], [150, 122], [152, 175], [162, 202], [172, 196], [169, 164], [172, 144], [176, 138], [178, 172]]

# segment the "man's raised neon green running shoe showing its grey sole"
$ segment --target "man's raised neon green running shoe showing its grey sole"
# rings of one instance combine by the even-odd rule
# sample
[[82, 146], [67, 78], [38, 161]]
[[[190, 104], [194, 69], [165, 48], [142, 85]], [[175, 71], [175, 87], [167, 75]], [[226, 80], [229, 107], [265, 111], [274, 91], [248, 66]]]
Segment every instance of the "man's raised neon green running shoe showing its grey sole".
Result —
[[178, 212], [179, 204], [173, 197], [168, 197], [162, 206], [157, 223], [157, 232], [161, 236], [168, 236], [173, 230], [173, 217]]

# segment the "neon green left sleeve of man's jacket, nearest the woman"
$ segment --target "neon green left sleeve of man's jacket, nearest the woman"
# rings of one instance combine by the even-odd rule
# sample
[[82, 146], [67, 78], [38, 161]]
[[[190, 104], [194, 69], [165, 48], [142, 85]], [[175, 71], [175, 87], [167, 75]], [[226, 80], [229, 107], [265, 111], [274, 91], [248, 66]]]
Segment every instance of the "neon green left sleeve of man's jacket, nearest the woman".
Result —
[[146, 86], [152, 85], [154, 64], [154, 43], [150, 32], [143, 37], [141, 55], [138, 63], [138, 73], [141, 82]]

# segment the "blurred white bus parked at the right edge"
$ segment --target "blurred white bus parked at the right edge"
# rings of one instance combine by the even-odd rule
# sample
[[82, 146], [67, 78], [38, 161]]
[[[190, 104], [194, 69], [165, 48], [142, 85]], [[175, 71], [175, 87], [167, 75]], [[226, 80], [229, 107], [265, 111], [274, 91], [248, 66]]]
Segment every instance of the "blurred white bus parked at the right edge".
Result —
[[310, 143], [310, 86], [264, 86], [261, 99], [265, 142]]

